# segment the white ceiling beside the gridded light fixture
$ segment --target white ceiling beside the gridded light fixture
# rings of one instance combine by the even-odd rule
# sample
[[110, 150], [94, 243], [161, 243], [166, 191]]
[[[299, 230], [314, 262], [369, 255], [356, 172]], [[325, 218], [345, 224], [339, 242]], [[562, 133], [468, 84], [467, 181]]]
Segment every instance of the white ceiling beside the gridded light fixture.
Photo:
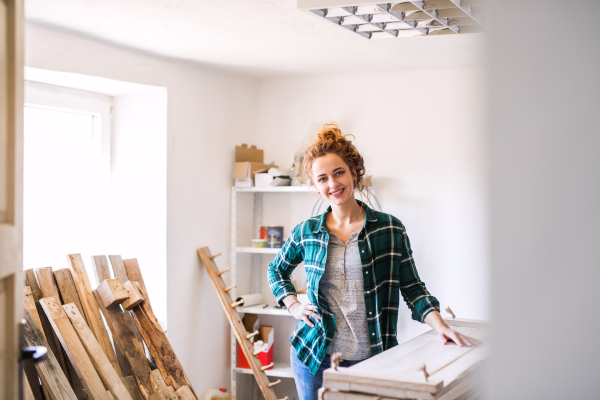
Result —
[[368, 40], [295, 0], [26, 0], [28, 21], [152, 54], [257, 75], [478, 63], [483, 35]]

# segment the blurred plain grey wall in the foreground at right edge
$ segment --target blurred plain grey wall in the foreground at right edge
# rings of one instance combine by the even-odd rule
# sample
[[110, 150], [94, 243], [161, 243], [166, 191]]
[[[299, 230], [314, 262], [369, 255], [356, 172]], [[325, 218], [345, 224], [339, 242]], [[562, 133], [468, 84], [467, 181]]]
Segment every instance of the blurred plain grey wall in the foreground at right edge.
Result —
[[489, 398], [597, 399], [600, 3], [493, 3]]

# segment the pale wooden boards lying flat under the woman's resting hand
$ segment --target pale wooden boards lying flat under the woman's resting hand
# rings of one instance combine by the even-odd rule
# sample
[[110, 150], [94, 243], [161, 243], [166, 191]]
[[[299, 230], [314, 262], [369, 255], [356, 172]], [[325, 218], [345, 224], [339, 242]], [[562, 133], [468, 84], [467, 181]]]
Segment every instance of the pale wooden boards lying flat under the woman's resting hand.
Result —
[[[460, 333], [485, 341], [483, 322], [446, 322]], [[326, 370], [321, 396], [324, 400], [469, 398], [477, 392], [487, 353], [485, 343], [477, 347], [443, 346], [431, 330], [350, 368]], [[423, 364], [427, 378], [419, 370]]]

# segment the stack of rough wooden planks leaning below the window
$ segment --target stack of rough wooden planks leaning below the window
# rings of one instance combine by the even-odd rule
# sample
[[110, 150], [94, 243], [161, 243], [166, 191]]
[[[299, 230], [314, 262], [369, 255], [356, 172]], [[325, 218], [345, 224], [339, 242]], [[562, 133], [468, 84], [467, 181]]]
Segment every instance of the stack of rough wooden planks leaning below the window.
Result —
[[25, 271], [25, 345], [48, 349], [43, 361], [24, 363], [33, 398], [197, 400], [137, 260], [92, 257], [96, 289], [81, 256], [67, 260], [68, 268]]

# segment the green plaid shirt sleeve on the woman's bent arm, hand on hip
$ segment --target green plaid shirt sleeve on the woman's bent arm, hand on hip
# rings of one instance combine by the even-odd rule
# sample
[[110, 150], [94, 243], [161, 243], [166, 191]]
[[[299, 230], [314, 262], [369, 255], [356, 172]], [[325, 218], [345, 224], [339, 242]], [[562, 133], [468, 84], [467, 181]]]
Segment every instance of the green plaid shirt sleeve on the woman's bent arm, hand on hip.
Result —
[[288, 240], [286, 240], [281, 251], [269, 263], [267, 268], [267, 278], [271, 292], [275, 295], [277, 303], [284, 306], [283, 299], [289, 295], [296, 296], [296, 288], [292, 284], [292, 271], [300, 264], [302, 258], [302, 248], [298, 242], [298, 226], [294, 228]]

